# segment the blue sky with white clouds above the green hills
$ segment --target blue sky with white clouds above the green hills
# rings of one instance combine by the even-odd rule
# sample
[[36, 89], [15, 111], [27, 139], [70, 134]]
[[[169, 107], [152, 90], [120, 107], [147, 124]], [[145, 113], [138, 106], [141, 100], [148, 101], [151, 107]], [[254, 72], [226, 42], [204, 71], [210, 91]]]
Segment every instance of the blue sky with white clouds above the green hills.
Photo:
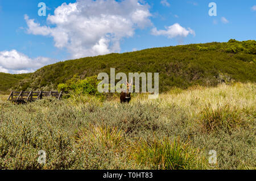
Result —
[[[125, 1], [0, 0], [0, 71], [26, 73], [97, 54], [256, 39], [255, 0]], [[46, 16], [38, 15], [39, 2], [46, 3]], [[217, 16], [209, 16], [210, 2]]]

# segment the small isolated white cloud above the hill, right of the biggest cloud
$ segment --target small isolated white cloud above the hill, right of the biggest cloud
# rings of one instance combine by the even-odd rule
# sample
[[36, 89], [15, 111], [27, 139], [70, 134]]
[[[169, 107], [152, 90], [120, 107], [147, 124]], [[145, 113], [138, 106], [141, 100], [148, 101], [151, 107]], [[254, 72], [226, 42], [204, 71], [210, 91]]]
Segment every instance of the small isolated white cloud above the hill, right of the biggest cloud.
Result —
[[172, 26], [166, 27], [166, 30], [157, 30], [156, 28], [153, 28], [151, 30], [151, 34], [155, 36], [167, 36], [169, 39], [174, 37], [187, 37], [189, 34], [196, 36], [195, 31], [191, 30], [191, 28], [183, 28], [179, 23], [175, 23]]

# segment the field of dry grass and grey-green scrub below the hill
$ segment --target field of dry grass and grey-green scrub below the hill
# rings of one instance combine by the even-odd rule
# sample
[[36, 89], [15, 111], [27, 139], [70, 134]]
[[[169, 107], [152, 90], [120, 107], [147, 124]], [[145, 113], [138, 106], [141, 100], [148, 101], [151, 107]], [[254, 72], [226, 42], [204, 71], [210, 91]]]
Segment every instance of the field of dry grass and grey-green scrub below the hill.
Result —
[[255, 83], [133, 95], [130, 104], [80, 96], [15, 105], [2, 95], [0, 169], [256, 169], [255, 95]]

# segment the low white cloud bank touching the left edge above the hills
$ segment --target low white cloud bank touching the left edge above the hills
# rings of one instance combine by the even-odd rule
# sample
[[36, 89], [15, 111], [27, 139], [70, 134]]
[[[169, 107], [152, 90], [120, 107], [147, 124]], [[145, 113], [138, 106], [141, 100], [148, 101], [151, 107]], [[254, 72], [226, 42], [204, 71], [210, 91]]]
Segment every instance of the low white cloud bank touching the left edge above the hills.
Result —
[[30, 58], [16, 50], [0, 52], [0, 71], [4, 73], [30, 73], [47, 65], [52, 60], [46, 57]]

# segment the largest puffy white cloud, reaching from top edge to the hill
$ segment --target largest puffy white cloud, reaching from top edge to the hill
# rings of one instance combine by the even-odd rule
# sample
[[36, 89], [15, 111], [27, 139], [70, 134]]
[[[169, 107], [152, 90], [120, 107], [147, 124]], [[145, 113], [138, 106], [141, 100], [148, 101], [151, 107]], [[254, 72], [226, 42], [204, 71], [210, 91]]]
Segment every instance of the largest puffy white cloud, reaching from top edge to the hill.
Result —
[[138, 0], [77, 0], [63, 3], [48, 15], [49, 26], [41, 26], [25, 15], [27, 32], [51, 36], [55, 47], [67, 48], [73, 58], [120, 52], [120, 40], [134, 35], [136, 28], [151, 26], [147, 4]]

